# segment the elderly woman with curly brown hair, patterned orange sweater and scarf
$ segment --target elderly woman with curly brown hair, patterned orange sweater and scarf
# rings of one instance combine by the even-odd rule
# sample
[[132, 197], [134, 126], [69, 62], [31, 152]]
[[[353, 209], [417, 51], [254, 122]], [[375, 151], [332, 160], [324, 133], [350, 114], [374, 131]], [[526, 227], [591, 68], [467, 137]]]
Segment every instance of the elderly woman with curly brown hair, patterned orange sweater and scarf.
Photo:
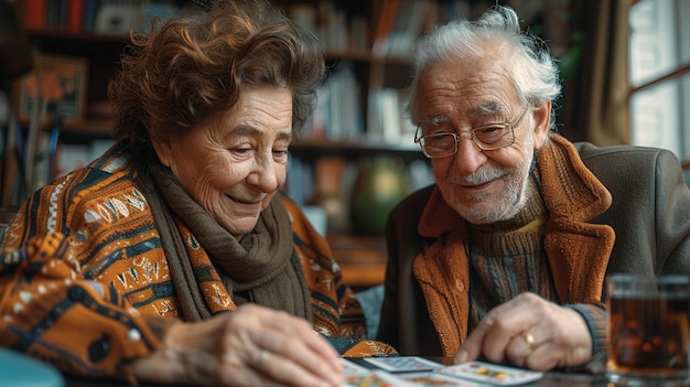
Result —
[[266, 4], [188, 9], [134, 34], [109, 86], [116, 144], [33, 194], [0, 255], [0, 345], [63, 372], [337, 386], [364, 315], [279, 194], [322, 55]]

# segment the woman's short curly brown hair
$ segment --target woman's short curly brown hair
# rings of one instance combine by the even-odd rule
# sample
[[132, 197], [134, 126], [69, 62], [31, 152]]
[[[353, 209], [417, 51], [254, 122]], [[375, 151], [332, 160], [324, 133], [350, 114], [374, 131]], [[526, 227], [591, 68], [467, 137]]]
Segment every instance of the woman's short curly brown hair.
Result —
[[244, 88], [292, 92], [292, 128], [310, 118], [325, 65], [314, 37], [265, 1], [192, 7], [131, 45], [108, 87], [115, 138], [145, 173], [158, 164], [151, 138], [184, 133], [231, 108]]

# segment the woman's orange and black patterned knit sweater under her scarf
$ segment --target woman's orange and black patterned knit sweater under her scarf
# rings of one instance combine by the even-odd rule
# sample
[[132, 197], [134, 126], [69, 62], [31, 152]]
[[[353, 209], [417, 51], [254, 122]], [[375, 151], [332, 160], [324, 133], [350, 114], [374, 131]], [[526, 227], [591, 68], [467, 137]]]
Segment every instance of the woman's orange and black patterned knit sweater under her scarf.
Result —
[[[34, 193], [0, 247], [0, 345], [65, 373], [118, 376], [123, 362], [162, 345], [179, 300], [132, 164], [114, 147], [87, 168]], [[303, 264], [314, 329], [364, 337], [366, 324], [325, 239], [288, 198], [293, 248]], [[207, 252], [176, 219], [213, 313], [236, 308]], [[349, 355], [380, 350], [360, 342]], [[371, 351], [371, 352], [369, 352]], [[346, 354], [347, 355], [347, 354]]]

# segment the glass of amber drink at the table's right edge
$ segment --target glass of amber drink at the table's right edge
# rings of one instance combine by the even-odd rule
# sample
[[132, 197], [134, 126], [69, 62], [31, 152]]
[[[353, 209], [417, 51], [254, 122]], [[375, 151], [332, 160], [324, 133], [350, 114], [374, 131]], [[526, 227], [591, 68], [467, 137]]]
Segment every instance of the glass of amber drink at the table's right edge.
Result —
[[684, 385], [690, 278], [613, 275], [607, 294], [608, 379], [625, 385]]

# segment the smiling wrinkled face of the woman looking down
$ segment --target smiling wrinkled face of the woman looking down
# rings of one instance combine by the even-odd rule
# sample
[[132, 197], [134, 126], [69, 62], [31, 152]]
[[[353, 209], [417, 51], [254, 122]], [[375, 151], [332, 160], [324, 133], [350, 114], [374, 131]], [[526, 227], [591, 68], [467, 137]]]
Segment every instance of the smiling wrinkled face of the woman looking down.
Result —
[[235, 237], [257, 224], [285, 182], [292, 139], [290, 90], [242, 90], [231, 109], [184, 137], [153, 141], [184, 190]]

